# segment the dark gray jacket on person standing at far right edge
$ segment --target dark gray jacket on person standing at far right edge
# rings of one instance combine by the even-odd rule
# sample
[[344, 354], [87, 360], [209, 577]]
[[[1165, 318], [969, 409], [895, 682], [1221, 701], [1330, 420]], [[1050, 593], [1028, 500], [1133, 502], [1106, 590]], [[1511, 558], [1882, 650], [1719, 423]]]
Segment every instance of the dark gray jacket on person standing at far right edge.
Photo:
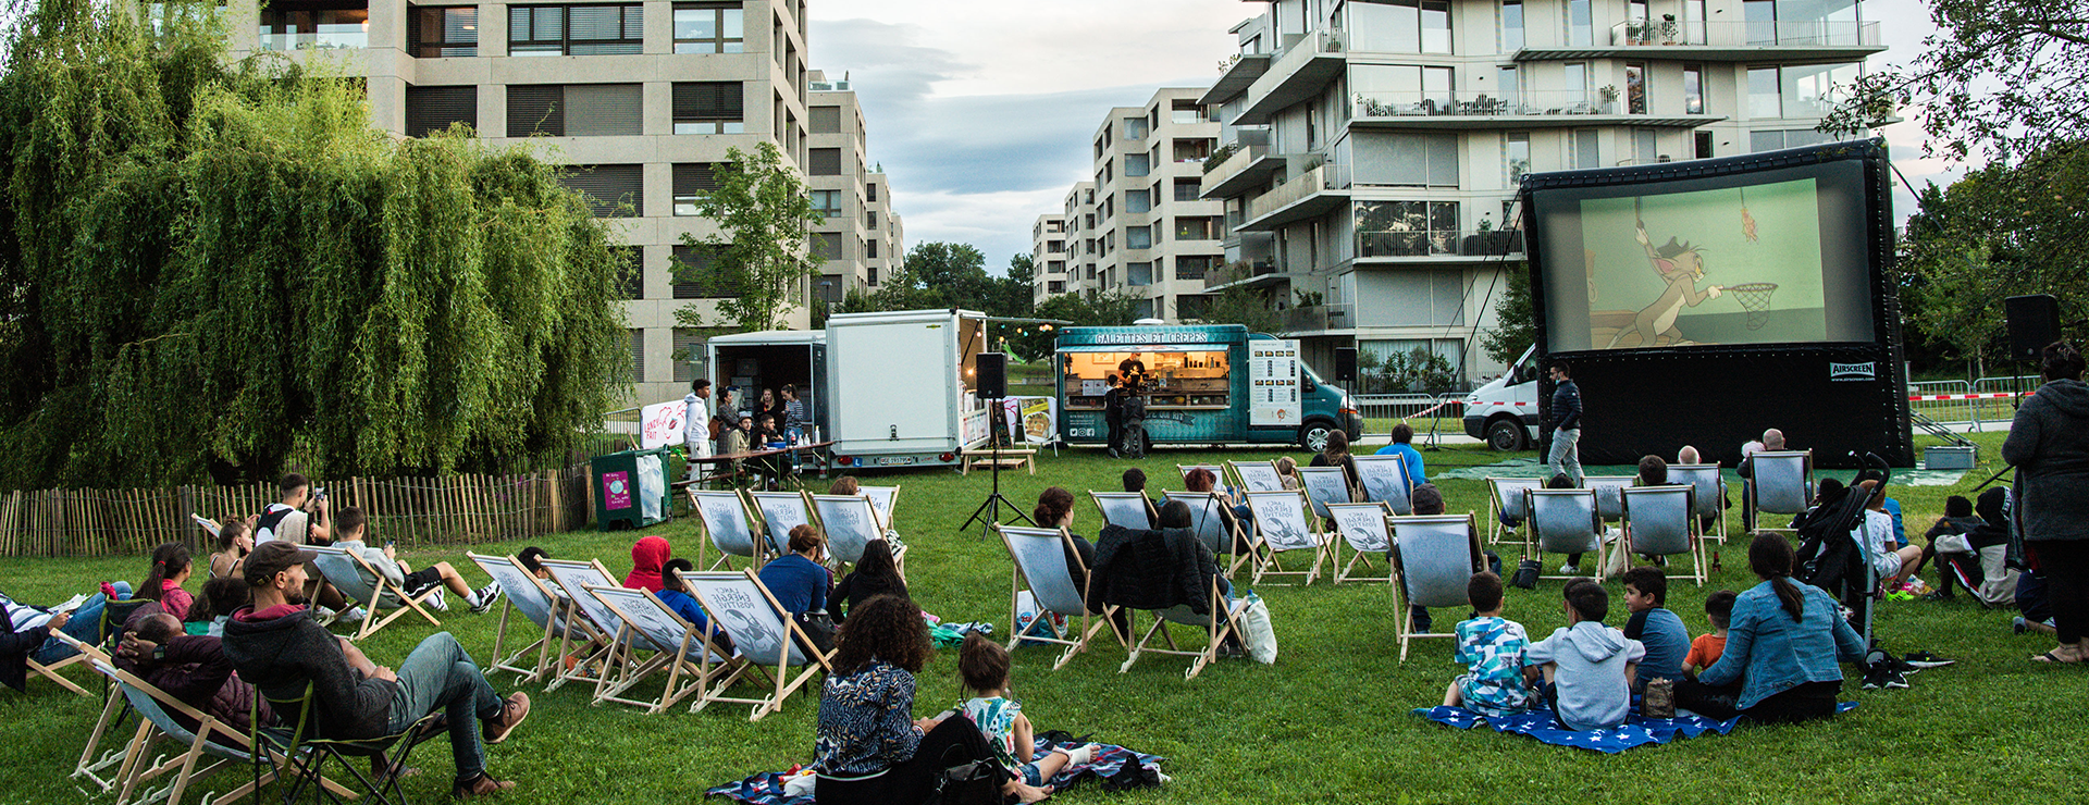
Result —
[[2089, 539], [2089, 385], [2039, 387], [2016, 410], [2001, 460], [2016, 464], [2026, 542]]

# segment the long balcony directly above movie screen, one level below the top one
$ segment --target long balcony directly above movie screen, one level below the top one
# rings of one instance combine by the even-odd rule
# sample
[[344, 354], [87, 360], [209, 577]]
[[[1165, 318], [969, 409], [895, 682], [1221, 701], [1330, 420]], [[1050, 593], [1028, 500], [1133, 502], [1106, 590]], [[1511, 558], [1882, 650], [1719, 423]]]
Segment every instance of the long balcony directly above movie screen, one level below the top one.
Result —
[[1485, 128], [1583, 128], [1644, 125], [1698, 128], [1719, 115], [1629, 113], [1623, 98], [1602, 100], [1596, 92], [1523, 90], [1487, 92], [1358, 92], [1352, 98], [1352, 128], [1389, 130], [1485, 130]]

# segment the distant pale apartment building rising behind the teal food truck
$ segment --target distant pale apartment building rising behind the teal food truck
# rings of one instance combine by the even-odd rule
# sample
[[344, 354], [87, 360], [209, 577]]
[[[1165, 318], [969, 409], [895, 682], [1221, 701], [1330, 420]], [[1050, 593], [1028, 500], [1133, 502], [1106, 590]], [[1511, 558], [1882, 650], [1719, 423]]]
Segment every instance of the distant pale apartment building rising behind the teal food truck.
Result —
[[[1118, 107], [1090, 142], [1095, 180], [1065, 199], [1063, 232], [1040, 217], [1032, 255], [1067, 249], [1063, 286], [1038, 257], [1036, 301], [1053, 293], [1118, 291], [1141, 299], [1141, 316], [1197, 318], [1205, 276], [1220, 268], [1224, 205], [1203, 199], [1203, 167], [1218, 148], [1214, 109], [1201, 88], [1164, 88], [1143, 107]], [[1063, 238], [1061, 238], [1063, 234]]]

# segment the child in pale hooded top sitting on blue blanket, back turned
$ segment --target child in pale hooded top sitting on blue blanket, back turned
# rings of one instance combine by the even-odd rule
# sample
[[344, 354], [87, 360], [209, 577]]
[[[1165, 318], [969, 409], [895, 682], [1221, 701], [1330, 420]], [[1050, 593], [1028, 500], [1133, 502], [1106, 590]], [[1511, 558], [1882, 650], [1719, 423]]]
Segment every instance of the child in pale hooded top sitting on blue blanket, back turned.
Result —
[[1546, 703], [1567, 730], [1602, 730], [1632, 713], [1632, 677], [1646, 646], [1602, 625], [1611, 594], [1592, 579], [1567, 581], [1567, 627], [1531, 644], [1523, 661], [1542, 667]]

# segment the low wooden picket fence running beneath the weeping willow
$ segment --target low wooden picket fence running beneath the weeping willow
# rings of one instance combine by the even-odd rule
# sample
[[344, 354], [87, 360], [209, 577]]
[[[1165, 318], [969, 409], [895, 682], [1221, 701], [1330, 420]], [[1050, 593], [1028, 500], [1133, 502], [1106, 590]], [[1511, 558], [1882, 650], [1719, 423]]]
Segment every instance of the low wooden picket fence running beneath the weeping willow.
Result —
[[[572, 531], [593, 516], [587, 464], [529, 475], [336, 479], [328, 504], [370, 514], [374, 542], [470, 546]], [[276, 502], [274, 483], [171, 489], [33, 489], [0, 496], [0, 556], [127, 556], [167, 542], [211, 550], [190, 512], [244, 519]]]

